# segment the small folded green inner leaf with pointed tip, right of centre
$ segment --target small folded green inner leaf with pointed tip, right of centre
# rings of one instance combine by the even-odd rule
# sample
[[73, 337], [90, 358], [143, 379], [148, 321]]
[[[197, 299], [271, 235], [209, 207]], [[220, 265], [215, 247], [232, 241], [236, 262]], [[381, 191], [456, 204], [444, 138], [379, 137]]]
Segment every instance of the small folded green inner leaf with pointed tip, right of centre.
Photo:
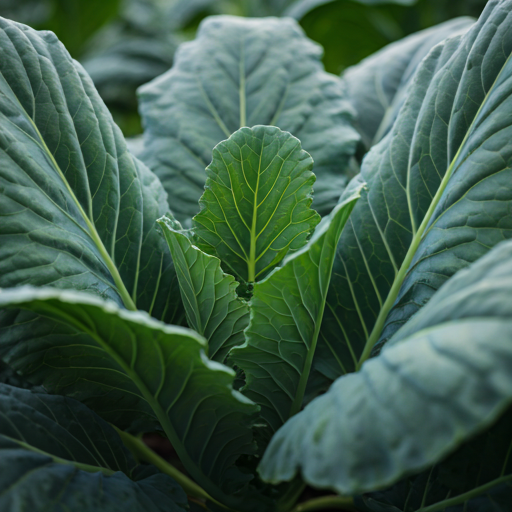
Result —
[[311, 241], [257, 283], [246, 343], [231, 350], [242, 393], [261, 406], [269, 437], [303, 403], [331, 279], [336, 244], [360, 190], [339, 204]]

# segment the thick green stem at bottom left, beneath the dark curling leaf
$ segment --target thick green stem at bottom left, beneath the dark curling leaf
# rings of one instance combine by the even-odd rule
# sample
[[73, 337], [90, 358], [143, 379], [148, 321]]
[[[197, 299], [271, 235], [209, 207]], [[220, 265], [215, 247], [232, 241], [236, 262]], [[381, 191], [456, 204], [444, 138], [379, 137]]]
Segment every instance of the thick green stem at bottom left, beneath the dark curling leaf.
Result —
[[124, 445], [132, 452], [137, 460], [153, 464], [153, 466], [157, 467], [162, 473], [174, 478], [174, 480], [183, 487], [188, 496], [202, 500], [209, 500], [223, 508], [226, 508], [224, 505], [214, 500], [202, 487], [197, 485], [188, 476], [184, 475], [179, 469], [162, 459], [162, 457], [151, 450], [151, 448], [149, 448], [149, 446], [147, 446], [138, 437], [119, 430], [115, 425], [112, 426], [116, 429]]

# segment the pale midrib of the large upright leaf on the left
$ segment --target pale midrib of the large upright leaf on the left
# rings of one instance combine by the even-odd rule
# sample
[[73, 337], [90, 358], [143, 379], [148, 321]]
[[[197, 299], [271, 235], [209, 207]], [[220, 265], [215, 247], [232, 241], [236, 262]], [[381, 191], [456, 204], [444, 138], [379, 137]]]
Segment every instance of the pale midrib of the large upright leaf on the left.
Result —
[[[13, 91], [13, 93], [14, 93], [14, 91]], [[66, 187], [69, 194], [71, 195], [71, 198], [73, 199], [73, 202], [75, 203], [76, 207], [78, 208], [80, 215], [83, 217], [83, 219], [87, 225], [87, 228], [89, 229], [89, 235], [91, 236], [94, 244], [96, 245], [98, 251], [100, 252], [100, 255], [101, 255], [105, 265], [107, 266], [110, 274], [112, 275], [112, 278], [114, 279], [114, 283], [116, 284], [116, 286], [118, 288], [119, 295], [121, 296], [126, 309], [130, 309], [132, 311], [137, 311], [137, 307], [135, 306], [135, 303], [133, 302], [132, 297], [128, 293], [128, 290], [126, 289], [126, 286], [124, 285], [124, 282], [121, 279], [121, 275], [119, 274], [117, 267], [115, 266], [114, 262], [112, 261], [110, 255], [108, 254], [108, 252], [105, 248], [105, 245], [103, 244], [103, 241], [101, 240], [98, 232], [96, 231], [96, 226], [89, 219], [89, 217], [85, 213], [84, 209], [82, 208], [82, 205], [78, 201], [75, 193], [73, 192], [72, 188], [69, 186], [68, 180], [64, 176], [64, 173], [62, 172], [59, 164], [55, 160], [55, 157], [53, 156], [52, 152], [46, 145], [46, 141], [44, 140], [43, 136], [41, 135], [39, 128], [34, 123], [33, 119], [25, 111], [25, 109], [23, 108], [23, 105], [19, 102], [16, 94], [14, 94], [14, 97], [18, 101], [20, 109], [25, 113], [26, 118], [29, 120], [30, 124], [32, 125], [35, 132], [37, 133], [39, 140], [41, 141], [41, 144], [42, 144], [42, 149], [46, 152], [48, 158], [50, 158], [50, 161], [52, 162], [53, 166], [55, 167], [55, 170], [57, 171], [62, 182], [64, 183], [64, 186]]]

